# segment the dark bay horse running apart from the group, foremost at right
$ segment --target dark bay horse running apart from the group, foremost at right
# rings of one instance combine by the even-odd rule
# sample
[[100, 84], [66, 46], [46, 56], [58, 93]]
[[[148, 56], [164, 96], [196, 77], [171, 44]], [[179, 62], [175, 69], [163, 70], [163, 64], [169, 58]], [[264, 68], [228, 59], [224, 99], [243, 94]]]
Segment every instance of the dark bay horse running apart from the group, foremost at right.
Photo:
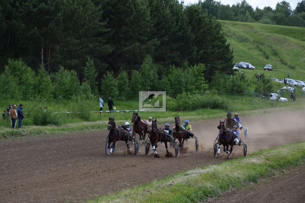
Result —
[[[233, 145], [234, 145], [234, 134], [230, 132], [229, 129], [226, 129], [224, 126], [224, 122], [219, 121], [219, 126], [217, 126], [219, 129], [219, 136], [218, 136], [218, 152], [217, 155], [220, 154], [220, 147], [221, 145], [224, 146], [224, 152], [228, 154], [228, 157], [231, 157], [232, 151], [233, 151]], [[229, 145], [231, 145], [230, 150]], [[225, 150], [225, 148], [227, 150]]]

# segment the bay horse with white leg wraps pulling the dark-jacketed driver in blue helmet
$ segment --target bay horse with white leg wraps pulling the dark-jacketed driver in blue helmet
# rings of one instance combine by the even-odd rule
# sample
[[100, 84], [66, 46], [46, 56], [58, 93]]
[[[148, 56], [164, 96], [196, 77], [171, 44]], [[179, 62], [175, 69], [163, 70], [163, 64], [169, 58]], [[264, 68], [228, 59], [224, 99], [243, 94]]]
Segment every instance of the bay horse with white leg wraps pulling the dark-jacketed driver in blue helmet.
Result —
[[165, 134], [166, 134], [166, 132], [164, 130], [157, 128], [157, 119], [152, 121], [152, 131], [149, 134], [150, 144], [152, 145], [152, 155], [158, 154], [156, 151], [156, 148], [157, 148], [157, 143], [160, 141], [164, 142], [165, 148], [166, 148], [166, 153], [168, 153], [167, 138], [166, 138]]

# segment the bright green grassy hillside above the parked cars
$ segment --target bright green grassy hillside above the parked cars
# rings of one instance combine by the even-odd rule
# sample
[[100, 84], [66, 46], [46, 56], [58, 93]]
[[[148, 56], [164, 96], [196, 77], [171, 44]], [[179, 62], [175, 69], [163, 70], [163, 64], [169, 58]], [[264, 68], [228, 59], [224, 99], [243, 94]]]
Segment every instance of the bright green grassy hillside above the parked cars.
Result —
[[[266, 76], [305, 81], [305, 29], [301, 27], [220, 21], [231, 44], [234, 63], [249, 62], [256, 70], [245, 73], [264, 73]], [[264, 71], [272, 64], [274, 71]]]

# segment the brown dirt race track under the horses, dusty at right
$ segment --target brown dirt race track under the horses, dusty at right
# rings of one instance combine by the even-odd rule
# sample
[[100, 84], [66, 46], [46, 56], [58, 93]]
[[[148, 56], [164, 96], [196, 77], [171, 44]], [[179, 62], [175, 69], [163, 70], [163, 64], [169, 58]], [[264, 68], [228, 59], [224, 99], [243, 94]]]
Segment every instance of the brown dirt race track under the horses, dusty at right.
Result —
[[[303, 116], [302, 111], [241, 117], [242, 124], [249, 128], [248, 139], [241, 131], [243, 141], [248, 144], [248, 154], [305, 141]], [[222, 149], [220, 157], [213, 156], [219, 120], [191, 124], [199, 138], [199, 151], [195, 151], [195, 140], [189, 139], [178, 158], [165, 157], [164, 144], [160, 143], [157, 148], [160, 158], [145, 156], [142, 143], [139, 156], [132, 154], [134, 145], [127, 151], [124, 142], [117, 142], [112, 156], [106, 155], [108, 131], [0, 140], [0, 202], [85, 201], [182, 170], [228, 160]], [[171, 152], [174, 154], [173, 149]], [[242, 146], [235, 146], [232, 155], [232, 158], [243, 156]], [[299, 173], [304, 174], [304, 170]], [[290, 182], [293, 177], [300, 178], [292, 176]], [[299, 181], [298, 190], [304, 189], [304, 181]]]

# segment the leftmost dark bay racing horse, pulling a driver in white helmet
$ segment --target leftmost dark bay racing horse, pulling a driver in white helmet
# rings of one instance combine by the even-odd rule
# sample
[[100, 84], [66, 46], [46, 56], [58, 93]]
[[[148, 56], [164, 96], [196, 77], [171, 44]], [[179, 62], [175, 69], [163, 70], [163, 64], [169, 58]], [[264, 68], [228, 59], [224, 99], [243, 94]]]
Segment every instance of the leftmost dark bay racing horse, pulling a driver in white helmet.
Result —
[[[115, 148], [115, 142], [118, 140], [125, 141], [127, 148], [129, 149], [130, 146], [128, 144], [128, 134], [125, 133], [124, 129], [120, 126], [116, 127], [114, 118], [109, 117], [108, 126], [107, 129], [109, 130], [108, 134], [108, 149], [110, 149], [109, 155], [112, 155]], [[112, 142], [112, 145], [110, 147], [110, 143]]]

